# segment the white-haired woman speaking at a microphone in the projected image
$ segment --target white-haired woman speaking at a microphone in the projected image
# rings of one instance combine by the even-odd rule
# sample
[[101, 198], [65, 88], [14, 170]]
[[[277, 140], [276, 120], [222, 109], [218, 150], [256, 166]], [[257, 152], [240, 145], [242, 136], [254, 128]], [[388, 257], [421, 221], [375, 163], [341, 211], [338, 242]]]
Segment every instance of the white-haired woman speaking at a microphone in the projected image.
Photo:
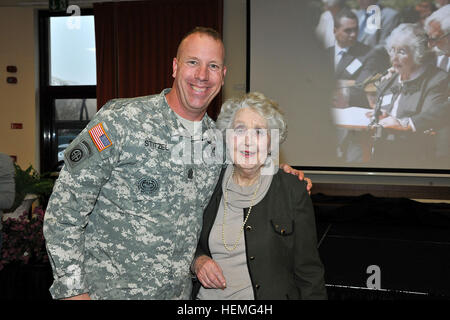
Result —
[[380, 163], [437, 164], [430, 133], [449, 122], [448, 75], [433, 65], [427, 40], [421, 27], [409, 23], [399, 25], [387, 39], [393, 74], [381, 82], [375, 108], [379, 125], [386, 129], [375, 145]]

